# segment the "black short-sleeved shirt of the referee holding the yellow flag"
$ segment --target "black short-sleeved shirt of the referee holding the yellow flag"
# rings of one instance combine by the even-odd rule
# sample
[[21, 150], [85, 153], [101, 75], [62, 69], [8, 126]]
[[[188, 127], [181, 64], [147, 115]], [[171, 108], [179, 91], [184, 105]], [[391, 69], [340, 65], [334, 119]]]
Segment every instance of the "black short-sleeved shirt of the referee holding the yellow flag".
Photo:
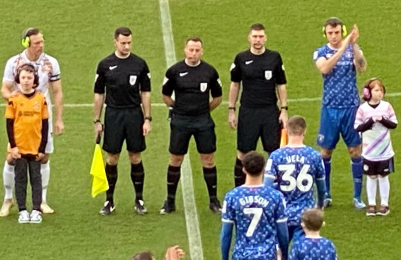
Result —
[[94, 92], [106, 92], [107, 106], [138, 107], [141, 105], [141, 91], [150, 91], [150, 74], [145, 60], [133, 53], [120, 59], [113, 53], [99, 62]]

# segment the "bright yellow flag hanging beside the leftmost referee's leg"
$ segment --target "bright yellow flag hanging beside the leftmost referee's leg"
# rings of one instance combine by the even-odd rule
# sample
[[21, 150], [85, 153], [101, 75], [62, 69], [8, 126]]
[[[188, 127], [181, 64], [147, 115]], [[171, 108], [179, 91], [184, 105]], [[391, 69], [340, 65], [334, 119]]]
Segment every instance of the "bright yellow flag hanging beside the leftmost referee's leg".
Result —
[[94, 198], [99, 193], [109, 189], [109, 183], [107, 182], [106, 172], [104, 170], [102, 150], [98, 143], [95, 146], [95, 153], [93, 154], [91, 175], [93, 176], [92, 198]]

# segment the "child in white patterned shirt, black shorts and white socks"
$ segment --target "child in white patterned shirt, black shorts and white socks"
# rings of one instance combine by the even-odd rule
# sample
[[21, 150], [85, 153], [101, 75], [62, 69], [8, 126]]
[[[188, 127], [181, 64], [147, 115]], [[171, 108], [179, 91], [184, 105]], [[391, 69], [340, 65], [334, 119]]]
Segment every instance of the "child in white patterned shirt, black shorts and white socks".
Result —
[[[390, 131], [398, 121], [393, 107], [383, 100], [385, 87], [378, 78], [368, 80], [363, 88], [362, 98], [366, 101], [357, 112], [354, 127], [362, 133], [363, 171], [368, 176], [366, 192], [369, 206], [366, 216], [385, 216], [390, 213], [388, 199], [390, 182], [388, 175], [394, 172], [394, 150]], [[377, 182], [381, 206], [376, 210]]]

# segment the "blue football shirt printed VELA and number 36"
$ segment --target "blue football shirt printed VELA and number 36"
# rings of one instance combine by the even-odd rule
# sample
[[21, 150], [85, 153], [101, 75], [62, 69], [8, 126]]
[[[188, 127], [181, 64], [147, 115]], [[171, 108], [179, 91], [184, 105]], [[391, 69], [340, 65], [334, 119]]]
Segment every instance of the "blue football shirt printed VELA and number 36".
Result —
[[315, 206], [315, 180], [325, 178], [322, 157], [309, 146], [285, 146], [271, 153], [265, 178], [274, 178], [284, 195], [288, 225], [300, 225], [302, 212]]

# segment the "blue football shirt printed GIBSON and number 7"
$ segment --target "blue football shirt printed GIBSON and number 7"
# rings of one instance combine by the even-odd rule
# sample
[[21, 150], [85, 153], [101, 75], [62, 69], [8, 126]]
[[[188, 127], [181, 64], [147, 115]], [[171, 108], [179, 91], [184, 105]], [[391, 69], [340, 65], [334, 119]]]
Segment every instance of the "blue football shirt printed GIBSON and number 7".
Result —
[[226, 194], [222, 221], [235, 225], [232, 259], [276, 259], [276, 223], [287, 221], [283, 195], [263, 184], [239, 186]]

